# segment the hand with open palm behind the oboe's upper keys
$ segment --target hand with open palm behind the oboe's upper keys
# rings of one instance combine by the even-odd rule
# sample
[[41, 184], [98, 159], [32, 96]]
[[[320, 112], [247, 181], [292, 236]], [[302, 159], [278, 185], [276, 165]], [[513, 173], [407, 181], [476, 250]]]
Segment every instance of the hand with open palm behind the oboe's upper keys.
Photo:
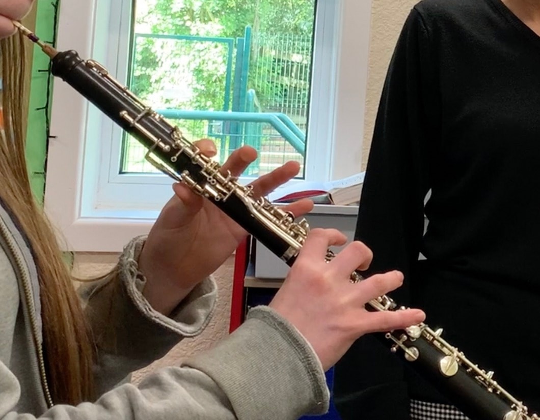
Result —
[[[195, 145], [207, 156], [216, 153], [211, 140]], [[222, 166], [223, 173], [239, 176], [257, 159], [251, 147], [235, 150]], [[251, 185], [255, 199], [268, 194], [296, 174], [300, 166], [288, 162]], [[143, 294], [154, 309], [168, 314], [182, 299], [231, 256], [247, 232], [210, 200], [184, 184], [174, 184], [174, 197], [164, 206], [139, 256], [139, 270], [147, 279]], [[309, 200], [287, 205], [296, 217], [309, 212]]]

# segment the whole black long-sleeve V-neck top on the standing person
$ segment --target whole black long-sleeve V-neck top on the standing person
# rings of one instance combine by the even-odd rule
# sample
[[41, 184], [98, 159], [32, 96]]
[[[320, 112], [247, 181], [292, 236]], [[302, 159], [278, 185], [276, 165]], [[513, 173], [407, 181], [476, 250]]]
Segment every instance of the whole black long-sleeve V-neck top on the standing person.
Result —
[[[356, 237], [374, 252], [370, 273], [405, 274], [391, 294], [399, 304], [424, 309], [428, 325], [540, 412], [540, 36], [501, 0], [424, 0], [411, 11]], [[343, 420], [407, 419], [409, 398], [447, 402], [389, 347], [365, 337], [338, 363]]]

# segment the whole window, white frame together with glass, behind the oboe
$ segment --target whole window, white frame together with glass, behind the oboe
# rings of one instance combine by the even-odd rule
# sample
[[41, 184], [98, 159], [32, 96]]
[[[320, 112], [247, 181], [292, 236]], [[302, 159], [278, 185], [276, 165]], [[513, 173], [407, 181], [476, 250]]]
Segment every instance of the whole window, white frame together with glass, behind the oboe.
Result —
[[[271, 9], [273, 2], [279, 0], [255, 3]], [[248, 169], [246, 182], [290, 159], [301, 162], [300, 178], [347, 176], [361, 162], [370, 2], [293, 3], [305, 6], [305, 16], [309, 6], [312, 13], [311, 20], [300, 19], [297, 38], [265, 33], [261, 24], [255, 30], [256, 20], [238, 22], [237, 31], [227, 33], [219, 19], [206, 26], [192, 19], [179, 30], [171, 28], [178, 18], [155, 15], [156, 4], [168, 4], [171, 16], [181, 16], [185, 4], [203, 4], [195, 0], [136, 0], [135, 9], [131, 0], [66, 2], [58, 48], [100, 61], [188, 138], [215, 139], [220, 159], [241, 143], [258, 147], [261, 159]], [[251, 60], [242, 61], [242, 51]], [[264, 80], [265, 72], [273, 79]], [[238, 89], [237, 80], [248, 83]], [[49, 147], [46, 209], [70, 249], [119, 251], [149, 230], [171, 195], [171, 180], [142, 162], [144, 150], [60, 81], [52, 112], [57, 137]], [[249, 118], [230, 118], [238, 113]]]

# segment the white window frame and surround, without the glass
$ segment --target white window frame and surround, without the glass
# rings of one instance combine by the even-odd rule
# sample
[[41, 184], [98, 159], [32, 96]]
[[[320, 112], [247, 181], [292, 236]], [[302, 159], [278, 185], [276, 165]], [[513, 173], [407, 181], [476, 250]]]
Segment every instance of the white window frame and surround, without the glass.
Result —
[[[62, 2], [58, 49], [75, 49], [80, 57], [96, 59], [126, 80], [125, 17], [130, 6], [131, 0]], [[327, 181], [360, 171], [371, 1], [319, 0], [318, 7], [308, 130], [308, 144], [318, 146], [308, 147], [306, 179]], [[164, 175], [110, 176], [117, 130], [74, 89], [56, 81], [45, 209], [65, 239], [66, 250], [122, 250], [130, 238], [149, 232], [172, 194], [172, 181]], [[119, 196], [123, 199], [110, 200]]]

